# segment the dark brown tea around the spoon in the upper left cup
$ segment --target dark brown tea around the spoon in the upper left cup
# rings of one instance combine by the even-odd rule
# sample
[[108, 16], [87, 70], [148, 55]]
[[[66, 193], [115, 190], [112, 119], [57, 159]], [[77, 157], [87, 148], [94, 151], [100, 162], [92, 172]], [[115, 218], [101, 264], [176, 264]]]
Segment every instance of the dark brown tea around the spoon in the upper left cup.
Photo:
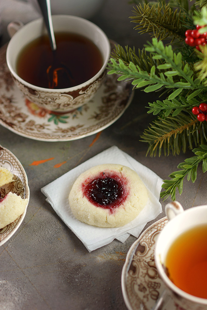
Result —
[[47, 35], [22, 49], [16, 65], [20, 78], [35, 86], [61, 89], [80, 85], [101, 69], [101, 52], [88, 38], [59, 32], [55, 33], [55, 41], [55, 52]]

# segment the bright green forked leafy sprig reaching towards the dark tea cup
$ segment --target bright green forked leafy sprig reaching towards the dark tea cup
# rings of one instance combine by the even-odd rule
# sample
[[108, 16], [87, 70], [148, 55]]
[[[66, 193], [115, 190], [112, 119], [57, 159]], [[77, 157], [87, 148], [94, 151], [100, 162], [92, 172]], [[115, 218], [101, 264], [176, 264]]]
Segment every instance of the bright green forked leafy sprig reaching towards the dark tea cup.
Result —
[[[132, 62], [124, 64], [119, 59], [119, 63], [117, 63], [111, 58], [108, 74], [120, 74], [119, 81], [124, 79], [133, 80], [132, 85], [134, 85], [134, 88], [147, 86], [144, 89], [145, 92], [161, 90], [163, 86], [169, 88], [173, 91], [168, 97], [170, 100], [181, 95], [183, 90], [187, 91], [187, 95], [190, 95], [191, 93], [195, 93], [196, 90], [199, 93], [206, 89], [201, 84], [201, 80], [196, 77], [196, 71], [192, 64], [183, 63], [182, 54], [174, 53], [171, 45], [165, 47], [162, 41], [157, 41], [156, 38], [152, 39], [152, 44], [149, 42], [148, 44], [145, 47], [145, 51], [149, 51], [153, 55], [152, 58], [157, 60], [157, 63], [162, 60], [162, 64], [153, 65], [150, 68], [150, 64], [148, 63], [148, 71], [144, 71]], [[159, 70], [159, 74], [156, 74], [156, 69]]]

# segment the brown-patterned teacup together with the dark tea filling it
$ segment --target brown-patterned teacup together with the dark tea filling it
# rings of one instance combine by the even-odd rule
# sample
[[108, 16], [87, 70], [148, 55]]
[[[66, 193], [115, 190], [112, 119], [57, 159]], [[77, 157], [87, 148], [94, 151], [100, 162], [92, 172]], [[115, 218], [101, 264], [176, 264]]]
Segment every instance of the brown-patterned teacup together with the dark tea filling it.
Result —
[[50, 48], [42, 18], [20, 28], [11, 38], [6, 62], [28, 100], [66, 113], [93, 98], [103, 82], [110, 55], [106, 34], [92, 22], [53, 15], [57, 50]]

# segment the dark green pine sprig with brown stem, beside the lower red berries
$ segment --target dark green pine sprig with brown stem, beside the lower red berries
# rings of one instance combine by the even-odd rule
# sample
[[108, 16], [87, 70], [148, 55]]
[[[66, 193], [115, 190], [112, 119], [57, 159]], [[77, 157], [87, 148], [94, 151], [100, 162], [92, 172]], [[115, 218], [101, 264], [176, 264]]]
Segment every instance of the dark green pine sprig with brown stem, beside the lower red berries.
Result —
[[195, 115], [184, 110], [176, 117], [173, 113], [167, 117], [158, 117], [148, 129], [145, 129], [141, 138], [142, 142], [149, 143], [147, 154], [150, 153], [150, 156], [156, 156], [157, 150], [160, 156], [162, 149], [165, 156], [169, 155], [170, 150], [173, 155], [179, 154], [181, 147], [185, 153], [187, 142], [190, 149], [193, 149], [193, 142], [195, 146], [206, 143], [207, 124], [199, 122]]

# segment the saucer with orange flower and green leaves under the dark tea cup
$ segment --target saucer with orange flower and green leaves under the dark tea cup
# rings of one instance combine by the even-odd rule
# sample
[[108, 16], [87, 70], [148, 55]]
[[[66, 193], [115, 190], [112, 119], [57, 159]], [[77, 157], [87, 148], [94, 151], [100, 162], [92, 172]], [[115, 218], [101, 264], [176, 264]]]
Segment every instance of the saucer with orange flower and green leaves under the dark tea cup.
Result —
[[107, 75], [88, 104], [60, 114], [38, 107], [19, 91], [6, 64], [6, 47], [0, 49], [0, 125], [26, 138], [69, 141], [93, 135], [113, 124], [132, 101], [131, 82]]

